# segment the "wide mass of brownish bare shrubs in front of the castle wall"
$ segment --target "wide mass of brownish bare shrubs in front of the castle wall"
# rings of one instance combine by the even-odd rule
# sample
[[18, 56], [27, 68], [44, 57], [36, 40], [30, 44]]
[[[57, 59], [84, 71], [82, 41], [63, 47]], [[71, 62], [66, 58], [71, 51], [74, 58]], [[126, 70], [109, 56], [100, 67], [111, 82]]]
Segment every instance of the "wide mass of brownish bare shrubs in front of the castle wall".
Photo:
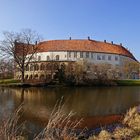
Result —
[[[72, 69], [72, 70], [71, 70]], [[76, 84], [107, 82], [120, 78], [120, 68], [108, 63], [93, 64], [85, 60], [68, 64], [65, 69], [66, 78], [72, 77]]]

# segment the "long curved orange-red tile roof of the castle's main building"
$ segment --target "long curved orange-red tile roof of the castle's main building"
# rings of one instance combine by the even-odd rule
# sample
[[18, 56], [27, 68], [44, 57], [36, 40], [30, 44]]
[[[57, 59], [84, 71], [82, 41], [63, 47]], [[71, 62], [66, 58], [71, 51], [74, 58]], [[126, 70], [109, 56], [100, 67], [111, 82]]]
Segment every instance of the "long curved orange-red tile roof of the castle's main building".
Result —
[[40, 42], [38, 45], [40, 48], [39, 52], [89, 51], [89, 52], [119, 54], [135, 59], [132, 53], [130, 53], [126, 48], [124, 48], [121, 45], [105, 43], [95, 40], [50, 40]]

